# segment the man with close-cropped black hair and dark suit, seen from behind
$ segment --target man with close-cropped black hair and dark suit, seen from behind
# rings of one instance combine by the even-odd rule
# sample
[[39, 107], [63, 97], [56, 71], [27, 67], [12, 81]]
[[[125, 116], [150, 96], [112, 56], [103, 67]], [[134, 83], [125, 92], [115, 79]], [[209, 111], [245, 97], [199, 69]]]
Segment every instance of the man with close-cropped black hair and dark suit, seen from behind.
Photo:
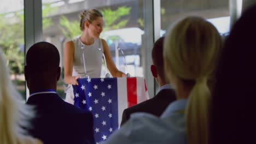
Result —
[[44, 143], [95, 143], [92, 114], [66, 103], [56, 93], [59, 64], [60, 54], [53, 44], [40, 42], [28, 50], [27, 104], [33, 105], [35, 113], [31, 127], [26, 129]]

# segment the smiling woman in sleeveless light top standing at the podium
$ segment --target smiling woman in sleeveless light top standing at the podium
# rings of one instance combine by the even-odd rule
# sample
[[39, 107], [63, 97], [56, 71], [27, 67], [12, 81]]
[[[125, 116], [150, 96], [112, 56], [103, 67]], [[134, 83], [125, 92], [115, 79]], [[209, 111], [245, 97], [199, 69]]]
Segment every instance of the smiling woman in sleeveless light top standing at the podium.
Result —
[[124, 77], [125, 74], [117, 69], [106, 40], [100, 38], [103, 30], [103, 15], [97, 9], [84, 10], [80, 14], [79, 38], [68, 41], [64, 51], [65, 83], [69, 84], [66, 91], [66, 101], [73, 104], [73, 88], [78, 85], [77, 79], [89, 76], [100, 77], [102, 57], [107, 69], [113, 77]]

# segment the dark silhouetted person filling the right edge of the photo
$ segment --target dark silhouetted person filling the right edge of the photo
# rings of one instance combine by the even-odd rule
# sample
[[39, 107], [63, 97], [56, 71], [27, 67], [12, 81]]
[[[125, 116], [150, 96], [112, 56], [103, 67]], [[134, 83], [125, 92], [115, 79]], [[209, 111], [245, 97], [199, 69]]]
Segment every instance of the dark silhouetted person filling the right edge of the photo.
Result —
[[234, 24], [216, 69], [212, 143], [255, 143], [256, 5]]

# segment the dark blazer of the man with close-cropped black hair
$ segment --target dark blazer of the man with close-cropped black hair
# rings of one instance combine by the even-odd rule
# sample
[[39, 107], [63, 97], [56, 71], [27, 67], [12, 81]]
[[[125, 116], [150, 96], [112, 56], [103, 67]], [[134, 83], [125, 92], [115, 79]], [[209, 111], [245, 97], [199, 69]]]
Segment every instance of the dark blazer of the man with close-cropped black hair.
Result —
[[95, 143], [93, 117], [88, 111], [63, 101], [54, 93], [32, 95], [36, 117], [28, 133], [46, 143]]

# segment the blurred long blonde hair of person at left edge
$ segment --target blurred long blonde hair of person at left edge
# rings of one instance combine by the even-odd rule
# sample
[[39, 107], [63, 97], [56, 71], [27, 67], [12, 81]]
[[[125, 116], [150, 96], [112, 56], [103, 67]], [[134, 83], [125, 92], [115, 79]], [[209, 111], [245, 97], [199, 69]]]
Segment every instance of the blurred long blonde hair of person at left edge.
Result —
[[25, 136], [21, 127], [28, 125], [28, 117], [32, 117], [32, 109], [22, 103], [20, 94], [10, 81], [9, 70], [0, 50], [0, 143], [1, 144], [37, 144], [37, 139]]

